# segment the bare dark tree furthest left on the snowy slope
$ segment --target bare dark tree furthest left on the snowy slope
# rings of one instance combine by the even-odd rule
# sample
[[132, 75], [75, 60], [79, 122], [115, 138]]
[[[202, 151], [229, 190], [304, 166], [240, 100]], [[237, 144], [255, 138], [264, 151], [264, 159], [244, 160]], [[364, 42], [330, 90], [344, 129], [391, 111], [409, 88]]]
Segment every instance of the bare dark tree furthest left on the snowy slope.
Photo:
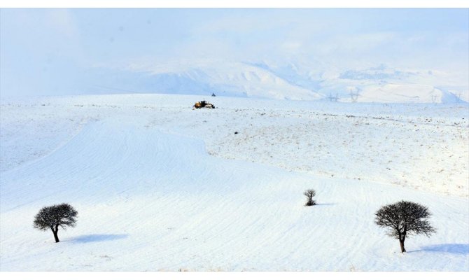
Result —
[[55, 242], [59, 242], [57, 232], [59, 227], [65, 230], [66, 226], [74, 227], [76, 225], [76, 215], [78, 212], [70, 204], [62, 203], [43, 207], [38, 214], [34, 216], [34, 228], [39, 230], [52, 230]]

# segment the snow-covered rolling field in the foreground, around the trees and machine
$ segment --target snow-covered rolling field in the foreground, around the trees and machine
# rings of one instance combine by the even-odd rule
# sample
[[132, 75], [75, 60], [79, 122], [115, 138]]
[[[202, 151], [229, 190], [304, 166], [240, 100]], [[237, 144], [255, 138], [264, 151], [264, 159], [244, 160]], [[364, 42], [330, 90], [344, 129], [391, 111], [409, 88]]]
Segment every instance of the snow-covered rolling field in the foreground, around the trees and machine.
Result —
[[[202, 98], [1, 100], [0, 270], [469, 270], [467, 104]], [[398, 200], [437, 228], [405, 254], [374, 225]]]

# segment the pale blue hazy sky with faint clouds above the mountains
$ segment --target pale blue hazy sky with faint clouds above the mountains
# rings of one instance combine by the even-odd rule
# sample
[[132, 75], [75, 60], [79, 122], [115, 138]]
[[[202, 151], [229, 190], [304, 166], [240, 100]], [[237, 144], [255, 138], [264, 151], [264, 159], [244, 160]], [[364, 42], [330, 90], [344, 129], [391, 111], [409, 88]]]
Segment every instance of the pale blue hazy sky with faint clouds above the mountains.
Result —
[[[1, 94], [174, 59], [469, 73], [469, 9], [1, 9]], [[318, 66], [320, 65], [320, 66]], [[130, 67], [132, 66], [132, 67]], [[82, 92], [80, 92], [82, 90]]]

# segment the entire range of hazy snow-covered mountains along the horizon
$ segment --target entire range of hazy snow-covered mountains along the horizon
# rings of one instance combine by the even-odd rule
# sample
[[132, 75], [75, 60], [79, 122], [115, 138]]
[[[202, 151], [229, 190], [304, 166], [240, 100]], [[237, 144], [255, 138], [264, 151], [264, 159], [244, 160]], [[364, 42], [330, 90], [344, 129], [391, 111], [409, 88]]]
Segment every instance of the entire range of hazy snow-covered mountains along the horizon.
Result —
[[461, 78], [454, 81], [450, 74], [440, 71], [399, 70], [384, 65], [344, 71], [325, 69], [327, 66], [321, 62], [314, 65], [210, 59], [147, 62], [121, 69], [117, 73], [120, 78], [108, 81], [113, 85], [108, 88], [338, 102], [462, 103], [469, 100], [468, 88], [461, 86]]

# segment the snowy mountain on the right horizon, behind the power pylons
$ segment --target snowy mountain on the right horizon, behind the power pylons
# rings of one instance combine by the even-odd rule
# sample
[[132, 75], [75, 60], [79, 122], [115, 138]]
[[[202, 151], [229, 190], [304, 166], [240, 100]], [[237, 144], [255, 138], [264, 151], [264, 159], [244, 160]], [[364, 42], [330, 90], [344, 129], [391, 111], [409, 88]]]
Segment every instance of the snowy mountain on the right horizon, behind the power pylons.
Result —
[[438, 71], [400, 71], [380, 65], [343, 71], [321, 83], [320, 92], [338, 97], [341, 102], [459, 103], [468, 100], [467, 88], [440, 85], [446, 76]]

